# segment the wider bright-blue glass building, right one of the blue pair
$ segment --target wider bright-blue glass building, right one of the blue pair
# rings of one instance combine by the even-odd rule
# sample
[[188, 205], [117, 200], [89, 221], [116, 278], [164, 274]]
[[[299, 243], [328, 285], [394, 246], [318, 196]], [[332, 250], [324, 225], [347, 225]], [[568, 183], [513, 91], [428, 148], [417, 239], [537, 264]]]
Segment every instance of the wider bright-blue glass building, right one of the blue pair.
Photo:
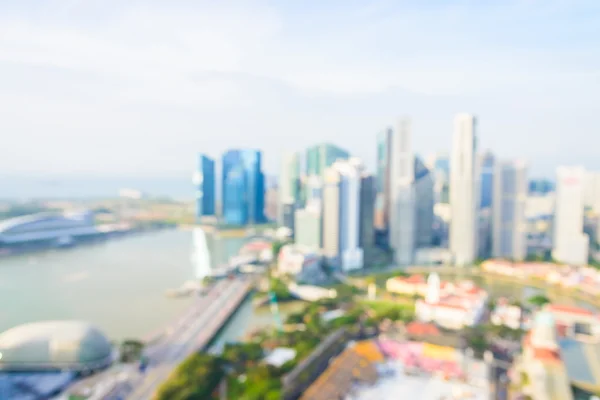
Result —
[[223, 154], [223, 220], [246, 225], [266, 222], [265, 176], [258, 150], [230, 150]]

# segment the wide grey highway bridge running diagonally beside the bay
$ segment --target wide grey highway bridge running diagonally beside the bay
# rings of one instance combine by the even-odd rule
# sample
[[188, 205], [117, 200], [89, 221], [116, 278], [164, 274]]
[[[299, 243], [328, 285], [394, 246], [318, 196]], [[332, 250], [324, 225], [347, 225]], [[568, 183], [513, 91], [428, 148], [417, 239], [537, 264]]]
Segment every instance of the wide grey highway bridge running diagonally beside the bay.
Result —
[[98, 399], [151, 399], [173, 370], [195, 351], [202, 350], [246, 297], [252, 283], [241, 278], [218, 281], [198, 296], [190, 311], [167, 328], [165, 334], [145, 350], [145, 373], [130, 370], [126, 378]]

